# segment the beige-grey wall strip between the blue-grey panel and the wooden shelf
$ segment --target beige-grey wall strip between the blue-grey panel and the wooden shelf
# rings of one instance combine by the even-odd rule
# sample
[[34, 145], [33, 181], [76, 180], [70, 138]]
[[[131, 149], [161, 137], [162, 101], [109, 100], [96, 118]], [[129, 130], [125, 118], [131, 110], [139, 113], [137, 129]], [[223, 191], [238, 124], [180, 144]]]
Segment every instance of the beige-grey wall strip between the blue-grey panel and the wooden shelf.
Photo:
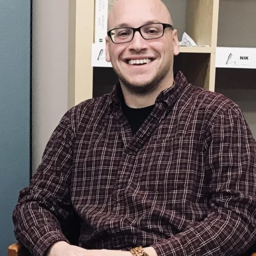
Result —
[[34, 0], [32, 34], [32, 168], [68, 110], [69, 0]]

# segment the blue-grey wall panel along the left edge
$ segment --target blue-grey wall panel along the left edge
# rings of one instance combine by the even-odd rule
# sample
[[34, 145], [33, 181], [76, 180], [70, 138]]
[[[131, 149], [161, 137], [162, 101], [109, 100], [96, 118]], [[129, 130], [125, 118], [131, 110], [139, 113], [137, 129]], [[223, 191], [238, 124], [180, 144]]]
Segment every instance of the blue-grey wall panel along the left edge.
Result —
[[12, 211], [30, 177], [30, 0], [0, 1], [0, 254], [15, 242]]

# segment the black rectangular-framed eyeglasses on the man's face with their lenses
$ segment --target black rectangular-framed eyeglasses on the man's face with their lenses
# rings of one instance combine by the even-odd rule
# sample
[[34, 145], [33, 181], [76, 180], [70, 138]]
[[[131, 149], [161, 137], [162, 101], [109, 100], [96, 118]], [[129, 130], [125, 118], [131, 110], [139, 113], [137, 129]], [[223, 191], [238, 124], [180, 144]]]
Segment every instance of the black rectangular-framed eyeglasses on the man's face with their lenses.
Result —
[[162, 37], [166, 28], [174, 29], [172, 25], [165, 23], [152, 23], [143, 25], [139, 28], [116, 28], [108, 31], [108, 36], [115, 44], [121, 44], [122, 42], [130, 42], [133, 40], [136, 31], [139, 31], [140, 35], [144, 39], [156, 39]]

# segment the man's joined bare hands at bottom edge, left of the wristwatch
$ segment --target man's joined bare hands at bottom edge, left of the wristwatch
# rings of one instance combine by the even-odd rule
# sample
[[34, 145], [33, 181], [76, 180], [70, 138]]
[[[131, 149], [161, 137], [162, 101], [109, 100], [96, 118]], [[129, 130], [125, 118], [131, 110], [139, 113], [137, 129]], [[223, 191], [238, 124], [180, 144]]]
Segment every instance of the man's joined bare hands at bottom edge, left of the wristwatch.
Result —
[[78, 246], [70, 245], [67, 242], [60, 241], [53, 244], [46, 256], [131, 256], [130, 251], [119, 250], [87, 250]]

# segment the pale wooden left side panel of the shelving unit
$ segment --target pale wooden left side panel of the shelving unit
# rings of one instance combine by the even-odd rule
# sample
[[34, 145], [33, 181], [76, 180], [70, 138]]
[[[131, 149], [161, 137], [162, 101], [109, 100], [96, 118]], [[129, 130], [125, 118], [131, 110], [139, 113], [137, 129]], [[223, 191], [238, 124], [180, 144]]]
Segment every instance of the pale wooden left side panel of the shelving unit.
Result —
[[69, 106], [92, 98], [94, 1], [72, 0], [69, 13]]

